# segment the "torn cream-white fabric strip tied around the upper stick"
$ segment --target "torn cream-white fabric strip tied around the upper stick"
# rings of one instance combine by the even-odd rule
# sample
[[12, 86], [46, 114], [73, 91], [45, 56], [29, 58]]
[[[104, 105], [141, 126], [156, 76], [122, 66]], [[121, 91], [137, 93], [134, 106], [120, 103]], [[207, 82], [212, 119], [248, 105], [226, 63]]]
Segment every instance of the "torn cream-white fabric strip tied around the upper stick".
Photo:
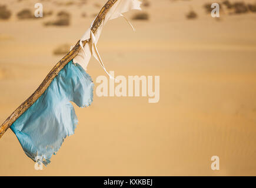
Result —
[[[118, 18], [120, 16], [124, 17], [122, 13], [128, 12], [132, 9], [141, 10], [141, 2], [138, 0], [118, 0], [112, 7], [109, 9], [108, 13], [105, 15], [104, 21], [101, 22], [101, 25], [99, 25], [97, 31], [95, 33], [92, 33], [91, 27], [84, 33], [82, 38], [80, 39], [80, 45], [81, 50], [79, 51], [78, 55], [75, 56], [73, 59], [74, 63], [79, 63], [79, 65], [82, 66], [85, 70], [87, 70], [87, 66], [89, 63], [89, 60], [91, 59], [91, 56], [93, 55], [95, 59], [99, 62], [102, 69], [109, 75], [107, 72], [104, 63], [102, 62], [101, 56], [99, 55], [98, 49], [97, 49], [97, 42], [99, 39], [99, 36], [101, 35], [102, 28], [107, 22], [111, 19]], [[124, 17], [125, 18], [125, 17]], [[131, 26], [132, 29], [134, 27], [131, 25], [131, 23], [125, 18], [125, 20], [128, 22], [128, 24]], [[94, 23], [94, 21], [91, 23]], [[135, 29], [134, 29], [135, 30]], [[82, 46], [82, 41], [86, 41], [88, 39], [91, 39], [89, 42], [85, 44], [85, 46]], [[111, 75], [109, 75], [111, 78]]]

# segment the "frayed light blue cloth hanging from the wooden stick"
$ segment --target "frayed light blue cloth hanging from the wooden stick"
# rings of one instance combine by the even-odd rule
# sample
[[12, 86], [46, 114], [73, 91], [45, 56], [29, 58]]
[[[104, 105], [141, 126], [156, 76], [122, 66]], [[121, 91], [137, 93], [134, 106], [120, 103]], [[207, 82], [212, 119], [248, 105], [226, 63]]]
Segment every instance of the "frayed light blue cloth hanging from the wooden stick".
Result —
[[78, 123], [70, 101], [79, 107], [93, 99], [91, 77], [71, 61], [52, 80], [38, 100], [11, 126], [21, 146], [32, 160], [45, 165], [59, 150], [66, 136], [74, 134]]

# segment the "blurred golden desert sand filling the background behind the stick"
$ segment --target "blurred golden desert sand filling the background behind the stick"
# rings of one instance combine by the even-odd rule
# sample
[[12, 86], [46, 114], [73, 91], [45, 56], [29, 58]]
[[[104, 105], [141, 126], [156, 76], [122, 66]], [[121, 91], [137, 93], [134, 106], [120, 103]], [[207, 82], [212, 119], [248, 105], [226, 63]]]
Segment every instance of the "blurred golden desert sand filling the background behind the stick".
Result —
[[[0, 20], [0, 123], [62, 58], [54, 49], [74, 45], [105, 3], [41, 1], [51, 16], [17, 19], [35, 2], [1, 1], [12, 16]], [[122, 18], [110, 21], [98, 49], [115, 75], [159, 75], [159, 102], [94, 95], [89, 108], [74, 105], [75, 135], [44, 170], [34, 169], [9, 129], [0, 140], [0, 176], [256, 175], [256, 14], [229, 14], [222, 5], [221, 18], [212, 18], [204, 0], [149, 2], [142, 6], [148, 20], [125, 14], [136, 32]], [[197, 18], [186, 18], [191, 9]], [[61, 10], [72, 15], [69, 26], [44, 26]], [[105, 75], [94, 58], [87, 72], [93, 80]], [[220, 170], [213, 171], [215, 155]]]

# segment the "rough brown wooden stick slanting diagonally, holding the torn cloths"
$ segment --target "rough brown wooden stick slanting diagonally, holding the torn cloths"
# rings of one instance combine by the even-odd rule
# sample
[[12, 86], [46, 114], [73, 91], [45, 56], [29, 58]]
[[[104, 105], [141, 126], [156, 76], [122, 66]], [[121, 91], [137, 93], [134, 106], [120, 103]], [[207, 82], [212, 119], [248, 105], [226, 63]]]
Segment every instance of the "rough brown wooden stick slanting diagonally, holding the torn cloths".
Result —
[[[102, 7], [101, 11], [99, 11], [99, 14], [97, 15], [97, 18], [95, 19], [94, 23], [92, 24], [91, 31], [95, 33], [101, 25], [102, 21], [105, 18], [105, 15], [108, 13], [109, 9], [117, 2], [118, 0], [108, 0], [108, 2]], [[89, 42], [90, 39], [87, 41], [82, 41], [82, 44], [85, 45], [87, 42]], [[38, 87], [38, 89], [35, 90], [35, 92], [29, 96], [28, 99], [25, 100], [12, 114], [9, 116], [5, 122], [0, 126], [0, 138], [6, 130], [14, 123], [19, 116], [22, 115], [30, 106], [32, 106], [36, 100], [45, 92], [45, 90], [48, 88], [52, 80], [58, 75], [59, 71], [64, 68], [65, 65], [68, 64], [72, 59], [75, 58], [75, 56], [80, 51], [81, 46], [79, 45], [79, 41], [74, 46], [74, 48], [67, 53], [67, 55], [64, 56], [55, 66], [52, 68], [52, 70], [48, 73], [46, 78], [43, 80], [41, 85]]]

